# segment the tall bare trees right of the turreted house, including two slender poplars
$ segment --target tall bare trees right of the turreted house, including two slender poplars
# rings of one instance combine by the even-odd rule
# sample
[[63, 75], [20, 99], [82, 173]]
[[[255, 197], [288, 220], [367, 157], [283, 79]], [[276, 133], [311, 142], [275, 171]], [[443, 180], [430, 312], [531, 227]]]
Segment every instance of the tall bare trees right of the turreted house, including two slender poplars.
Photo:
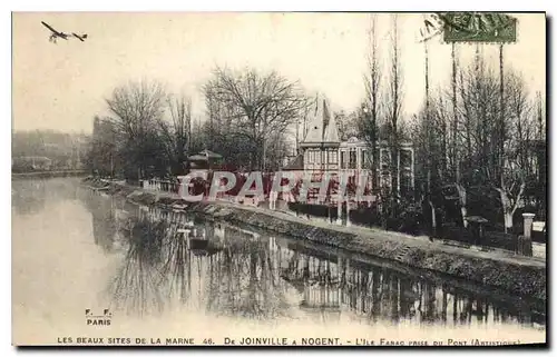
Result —
[[432, 90], [428, 43], [423, 43], [424, 103], [418, 113], [404, 118], [397, 17], [390, 32], [387, 73], [380, 66], [383, 53], [375, 32], [373, 18], [364, 73], [367, 97], [349, 120], [356, 123], [360, 138], [370, 147], [375, 184], [382, 175], [375, 142], [385, 140], [392, 158], [397, 158], [401, 140], [412, 141], [416, 150], [411, 197], [400, 197], [397, 160], [389, 160], [390, 188], [377, 192], [388, 202], [380, 207], [382, 215], [399, 216], [409, 200], [421, 204], [433, 231], [451, 220], [466, 227], [463, 218], [473, 215], [500, 222], [507, 231], [517, 221], [519, 208], [544, 219], [546, 103], [541, 93], [529, 92], [522, 73], [505, 63], [504, 44], [499, 46], [499, 68], [490, 68], [481, 57], [485, 44], [477, 44], [473, 62], [462, 66], [459, 44], [452, 43], [451, 80]]

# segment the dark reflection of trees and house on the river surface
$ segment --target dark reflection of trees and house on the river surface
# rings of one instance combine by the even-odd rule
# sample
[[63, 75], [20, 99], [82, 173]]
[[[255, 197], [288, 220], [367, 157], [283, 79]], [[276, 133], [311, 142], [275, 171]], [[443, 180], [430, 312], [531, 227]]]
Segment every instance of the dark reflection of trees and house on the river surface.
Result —
[[[431, 282], [344, 252], [180, 212], [127, 212], [106, 226], [99, 216], [104, 228], [96, 232], [127, 241], [108, 292], [115, 308], [128, 314], [187, 307], [260, 320], [326, 323], [348, 316], [368, 324], [545, 325], [545, 311], [528, 304]], [[99, 245], [105, 239], [96, 235]]]

